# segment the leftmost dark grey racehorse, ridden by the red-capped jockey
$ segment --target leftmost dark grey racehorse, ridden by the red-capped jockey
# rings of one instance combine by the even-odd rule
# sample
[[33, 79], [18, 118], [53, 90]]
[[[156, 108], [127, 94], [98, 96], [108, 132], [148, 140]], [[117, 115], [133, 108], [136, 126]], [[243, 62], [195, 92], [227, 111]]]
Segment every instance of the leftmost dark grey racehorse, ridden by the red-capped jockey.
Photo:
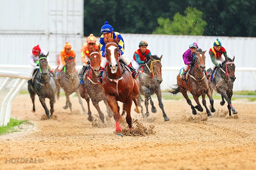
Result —
[[[48, 62], [47, 62], [47, 55], [41, 54], [39, 56], [39, 69], [36, 70], [35, 75], [32, 78], [32, 86], [28, 86], [28, 92], [30, 93], [30, 98], [32, 99], [33, 103], [33, 112], [35, 112], [35, 95], [37, 94], [39, 100], [44, 107], [45, 114], [47, 115], [48, 119], [53, 114], [53, 105], [55, 103], [55, 90], [56, 85], [52, 76], [50, 76], [48, 71]], [[50, 100], [50, 115], [49, 110], [45, 104], [45, 98], [49, 98]]]

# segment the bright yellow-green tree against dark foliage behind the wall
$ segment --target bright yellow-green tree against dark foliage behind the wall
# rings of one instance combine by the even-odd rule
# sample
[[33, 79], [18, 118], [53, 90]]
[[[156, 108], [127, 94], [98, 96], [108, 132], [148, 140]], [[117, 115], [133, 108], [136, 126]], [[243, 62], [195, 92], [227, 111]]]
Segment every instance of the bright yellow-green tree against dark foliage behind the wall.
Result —
[[159, 27], [154, 34], [168, 35], [203, 35], [207, 22], [202, 19], [203, 13], [199, 10], [189, 7], [185, 10], [185, 16], [177, 12], [173, 21], [168, 18], [158, 18]]

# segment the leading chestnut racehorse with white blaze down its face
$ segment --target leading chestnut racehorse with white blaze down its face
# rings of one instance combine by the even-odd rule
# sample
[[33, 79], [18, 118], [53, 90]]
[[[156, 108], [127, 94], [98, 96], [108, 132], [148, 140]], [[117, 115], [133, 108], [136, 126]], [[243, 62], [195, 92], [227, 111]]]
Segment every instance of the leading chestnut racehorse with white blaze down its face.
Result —
[[[107, 97], [107, 102], [113, 112], [116, 121], [117, 135], [123, 136], [119, 125], [119, 119], [122, 116], [119, 114], [118, 101], [124, 104], [126, 110], [126, 122], [129, 128], [132, 129], [131, 106], [132, 101], [136, 108], [137, 113], [141, 112], [138, 107], [136, 97], [140, 93], [140, 82], [138, 79], [133, 79], [129, 68], [119, 62], [120, 51], [118, 49], [118, 37], [115, 40], [104, 38], [105, 42], [105, 57], [107, 59], [107, 66], [103, 72], [102, 87]], [[123, 111], [124, 111], [123, 107]]]

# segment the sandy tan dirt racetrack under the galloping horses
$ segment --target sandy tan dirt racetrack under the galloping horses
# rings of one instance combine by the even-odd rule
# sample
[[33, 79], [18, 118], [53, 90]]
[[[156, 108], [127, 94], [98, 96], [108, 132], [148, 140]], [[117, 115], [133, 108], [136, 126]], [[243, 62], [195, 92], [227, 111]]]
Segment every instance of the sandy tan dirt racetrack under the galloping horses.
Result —
[[[164, 100], [170, 118], [164, 122], [153, 100], [157, 113], [142, 119], [132, 111], [133, 120], [137, 119], [133, 132], [124, 121], [121, 128], [126, 135], [120, 137], [115, 135], [114, 118], [101, 123], [91, 103], [94, 121], [89, 122], [75, 96], [71, 97], [73, 111], [62, 108], [66, 99], [61, 97], [54, 107], [55, 119], [41, 120], [45, 112], [38, 96], [33, 113], [29, 95], [18, 95], [11, 116], [35, 126], [24, 125], [22, 132], [0, 136], [0, 170], [256, 169], [255, 101], [233, 100], [238, 115], [229, 118], [226, 104], [220, 106], [220, 100], [215, 100], [216, 112], [207, 118], [206, 112], [193, 115], [184, 98]], [[106, 116], [106, 106], [100, 105]]]

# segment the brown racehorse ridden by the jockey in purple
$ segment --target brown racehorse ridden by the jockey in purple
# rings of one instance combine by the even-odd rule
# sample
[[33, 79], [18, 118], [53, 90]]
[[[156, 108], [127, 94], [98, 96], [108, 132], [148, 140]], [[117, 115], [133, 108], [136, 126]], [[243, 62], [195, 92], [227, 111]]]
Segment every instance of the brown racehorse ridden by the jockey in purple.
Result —
[[[191, 106], [192, 113], [194, 115], [197, 114], [198, 111], [203, 111], [202, 106], [199, 102], [199, 96], [202, 96], [202, 103], [204, 107], [206, 108], [206, 112], [208, 116], [211, 116], [211, 112], [215, 112], [215, 109], [213, 107], [213, 98], [211, 89], [209, 87], [208, 79], [205, 74], [205, 53], [206, 51], [202, 51], [201, 49], [198, 49], [197, 54], [195, 56], [195, 64], [191, 66], [191, 68], [187, 71], [187, 75], [185, 76], [185, 79], [182, 80], [180, 78], [180, 75], [177, 75], [177, 85], [178, 87], [175, 89], [172, 89], [170, 91], [173, 94], [177, 94], [178, 92], [181, 92], [182, 95], [186, 98], [187, 103]], [[193, 98], [195, 102], [197, 103], [197, 106], [193, 106], [191, 103], [191, 100], [187, 96], [187, 90], [193, 95]], [[206, 105], [206, 99], [205, 96], [209, 97], [210, 104], [211, 104], [211, 112], [208, 110]]]

